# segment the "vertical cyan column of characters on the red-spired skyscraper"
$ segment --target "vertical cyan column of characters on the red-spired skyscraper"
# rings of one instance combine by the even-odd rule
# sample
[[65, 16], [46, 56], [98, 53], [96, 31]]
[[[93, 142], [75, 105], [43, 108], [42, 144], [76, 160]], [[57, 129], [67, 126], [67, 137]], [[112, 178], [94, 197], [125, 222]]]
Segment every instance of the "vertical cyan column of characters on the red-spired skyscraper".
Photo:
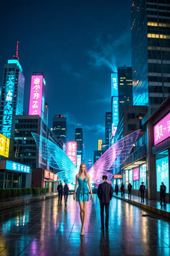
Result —
[[2, 133], [6, 137], [11, 137], [12, 112], [14, 105], [15, 73], [7, 73], [7, 82], [5, 89], [5, 101], [3, 110]]

